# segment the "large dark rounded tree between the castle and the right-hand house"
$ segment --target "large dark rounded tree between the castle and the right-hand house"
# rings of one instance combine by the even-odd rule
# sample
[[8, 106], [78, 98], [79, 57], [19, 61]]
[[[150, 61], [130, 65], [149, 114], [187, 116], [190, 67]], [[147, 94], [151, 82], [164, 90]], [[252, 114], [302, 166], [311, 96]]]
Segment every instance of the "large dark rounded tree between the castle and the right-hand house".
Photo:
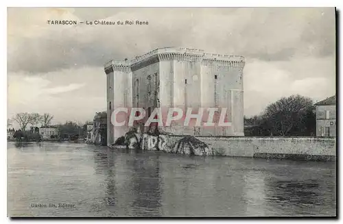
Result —
[[292, 95], [283, 97], [268, 105], [262, 115], [261, 123], [269, 129], [270, 135], [307, 135], [308, 126], [315, 125], [313, 101], [308, 97]]

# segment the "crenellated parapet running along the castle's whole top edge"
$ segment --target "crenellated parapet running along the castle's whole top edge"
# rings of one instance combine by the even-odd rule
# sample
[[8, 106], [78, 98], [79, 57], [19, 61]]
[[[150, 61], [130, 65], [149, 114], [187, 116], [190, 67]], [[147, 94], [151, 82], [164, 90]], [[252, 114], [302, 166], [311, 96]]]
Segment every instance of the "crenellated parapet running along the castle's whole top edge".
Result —
[[187, 62], [201, 62], [206, 66], [228, 66], [244, 68], [245, 59], [239, 55], [221, 55], [216, 53], [204, 53], [200, 49], [185, 47], [165, 47], [154, 49], [130, 61], [110, 61], [105, 64], [106, 74], [112, 71], [136, 71], [156, 62], [176, 60]]

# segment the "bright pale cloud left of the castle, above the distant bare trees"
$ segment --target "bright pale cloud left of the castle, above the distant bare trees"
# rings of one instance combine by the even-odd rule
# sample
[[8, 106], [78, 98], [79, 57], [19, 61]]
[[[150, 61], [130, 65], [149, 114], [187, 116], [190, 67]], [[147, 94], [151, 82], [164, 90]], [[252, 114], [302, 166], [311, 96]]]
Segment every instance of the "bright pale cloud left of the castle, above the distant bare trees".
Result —
[[[99, 75], [99, 73], [101, 73]], [[66, 84], [66, 81], [69, 84]], [[106, 110], [106, 75], [102, 68], [80, 68], [8, 75], [8, 116], [17, 112], [49, 112], [56, 121], [86, 121]]]

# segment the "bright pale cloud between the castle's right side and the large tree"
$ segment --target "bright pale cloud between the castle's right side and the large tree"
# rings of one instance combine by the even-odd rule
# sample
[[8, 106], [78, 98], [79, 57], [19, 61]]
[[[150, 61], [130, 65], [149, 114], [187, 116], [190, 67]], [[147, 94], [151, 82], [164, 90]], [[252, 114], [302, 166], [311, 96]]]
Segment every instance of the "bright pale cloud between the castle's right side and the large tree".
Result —
[[281, 97], [303, 95], [314, 101], [335, 94], [335, 66], [330, 58], [289, 62], [254, 60], [244, 69], [244, 114], [260, 114]]

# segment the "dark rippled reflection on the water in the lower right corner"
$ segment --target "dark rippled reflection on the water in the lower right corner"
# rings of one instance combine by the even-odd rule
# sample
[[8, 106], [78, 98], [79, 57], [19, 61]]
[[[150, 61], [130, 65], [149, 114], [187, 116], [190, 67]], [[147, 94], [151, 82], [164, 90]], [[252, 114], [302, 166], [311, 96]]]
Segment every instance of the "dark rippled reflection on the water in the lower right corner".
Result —
[[[315, 175], [315, 174], [314, 174]], [[335, 210], [322, 210], [322, 207], [335, 207], [335, 186], [324, 184], [323, 176], [316, 179], [265, 178], [265, 201], [274, 214], [285, 216], [333, 216]], [[289, 210], [293, 210], [289, 214]]]

